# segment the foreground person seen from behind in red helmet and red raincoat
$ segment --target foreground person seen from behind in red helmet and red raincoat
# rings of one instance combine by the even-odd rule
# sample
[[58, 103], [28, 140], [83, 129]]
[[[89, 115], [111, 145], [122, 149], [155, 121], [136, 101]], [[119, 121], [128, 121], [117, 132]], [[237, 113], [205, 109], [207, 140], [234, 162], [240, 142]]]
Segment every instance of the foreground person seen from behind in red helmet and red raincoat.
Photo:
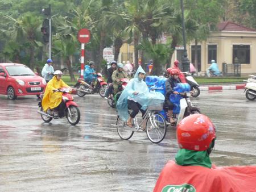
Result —
[[209, 155], [215, 127], [203, 114], [189, 115], [177, 126], [179, 151], [164, 166], [154, 192], [250, 192], [256, 190], [256, 166], [212, 165]]

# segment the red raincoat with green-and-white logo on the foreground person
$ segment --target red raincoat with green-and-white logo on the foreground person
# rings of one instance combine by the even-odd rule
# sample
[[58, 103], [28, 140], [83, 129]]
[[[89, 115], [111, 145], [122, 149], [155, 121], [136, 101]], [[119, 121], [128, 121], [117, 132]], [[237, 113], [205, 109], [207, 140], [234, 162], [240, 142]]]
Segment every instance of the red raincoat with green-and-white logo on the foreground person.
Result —
[[154, 192], [250, 192], [256, 191], [256, 166], [180, 166], [169, 161]]

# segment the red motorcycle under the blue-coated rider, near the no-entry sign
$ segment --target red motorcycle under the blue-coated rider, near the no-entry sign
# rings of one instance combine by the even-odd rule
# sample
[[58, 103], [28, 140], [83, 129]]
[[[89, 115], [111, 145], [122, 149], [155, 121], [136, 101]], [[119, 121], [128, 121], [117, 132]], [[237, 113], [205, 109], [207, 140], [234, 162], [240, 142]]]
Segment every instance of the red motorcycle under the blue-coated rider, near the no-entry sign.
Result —
[[102, 78], [101, 73], [96, 73], [96, 85], [90, 86], [83, 78], [78, 78], [75, 87], [77, 88], [77, 95], [84, 97], [86, 94], [99, 93], [101, 97], [105, 97], [107, 83]]

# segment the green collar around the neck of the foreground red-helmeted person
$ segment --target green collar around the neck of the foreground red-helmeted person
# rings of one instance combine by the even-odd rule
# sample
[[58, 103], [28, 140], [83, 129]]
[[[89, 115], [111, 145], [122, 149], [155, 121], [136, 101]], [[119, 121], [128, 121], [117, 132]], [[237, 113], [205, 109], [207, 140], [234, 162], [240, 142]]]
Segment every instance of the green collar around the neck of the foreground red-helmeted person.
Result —
[[176, 164], [182, 166], [204, 166], [212, 168], [212, 162], [207, 151], [191, 151], [188, 149], [179, 149], [175, 156]]

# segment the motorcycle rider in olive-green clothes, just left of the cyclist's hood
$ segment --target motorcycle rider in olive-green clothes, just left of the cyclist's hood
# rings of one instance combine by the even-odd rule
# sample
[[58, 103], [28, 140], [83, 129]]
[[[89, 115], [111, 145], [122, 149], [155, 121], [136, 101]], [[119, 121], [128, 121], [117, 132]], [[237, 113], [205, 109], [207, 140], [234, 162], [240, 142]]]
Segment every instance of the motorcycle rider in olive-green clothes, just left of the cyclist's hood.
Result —
[[112, 74], [114, 95], [119, 91], [119, 86], [122, 86], [121, 79], [127, 78], [127, 74], [123, 71], [123, 64], [117, 64], [117, 70], [115, 70]]

